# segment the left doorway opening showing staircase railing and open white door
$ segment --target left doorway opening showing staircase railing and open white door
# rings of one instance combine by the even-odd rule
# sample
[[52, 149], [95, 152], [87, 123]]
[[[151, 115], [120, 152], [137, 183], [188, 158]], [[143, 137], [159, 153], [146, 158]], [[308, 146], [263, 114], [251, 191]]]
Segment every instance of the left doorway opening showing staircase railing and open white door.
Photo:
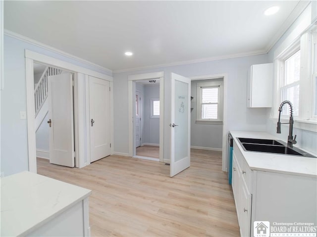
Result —
[[[73, 77], [73, 73], [60, 68], [33, 64], [37, 161], [42, 158], [57, 165], [75, 166]], [[68, 80], [66, 86], [64, 79]]]

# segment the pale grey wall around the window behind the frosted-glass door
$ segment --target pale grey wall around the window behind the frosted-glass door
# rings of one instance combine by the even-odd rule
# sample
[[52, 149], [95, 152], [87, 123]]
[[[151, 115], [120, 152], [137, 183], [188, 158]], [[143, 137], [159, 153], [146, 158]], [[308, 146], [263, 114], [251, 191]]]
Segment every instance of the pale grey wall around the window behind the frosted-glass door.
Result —
[[[221, 124], [197, 124], [196, 123], [196, 101], [197, 101], [197, 83], [209, 82], [214, 80], [199, 80], [191, 83], [191, 96], [194, 101], [191, 107], [194, 108], [191, 112], [191, 146], [200, 146], [206, 148], [222, 148], [222, 125]], [[221, 79], [222, 81], [222, 79]]]

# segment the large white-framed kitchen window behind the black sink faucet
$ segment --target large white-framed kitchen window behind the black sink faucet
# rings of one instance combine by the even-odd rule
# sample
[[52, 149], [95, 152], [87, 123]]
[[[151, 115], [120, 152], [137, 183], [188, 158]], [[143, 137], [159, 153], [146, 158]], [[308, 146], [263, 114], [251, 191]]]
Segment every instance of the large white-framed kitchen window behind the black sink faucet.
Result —
[[[277, 58], [279, 103], [289, 100], [293, 104], [293, 115], [297, 121], [317, 119], [316, 50], [314, 27]], [[282, 117], [289, 117], [289, 107], [283, 109]]]

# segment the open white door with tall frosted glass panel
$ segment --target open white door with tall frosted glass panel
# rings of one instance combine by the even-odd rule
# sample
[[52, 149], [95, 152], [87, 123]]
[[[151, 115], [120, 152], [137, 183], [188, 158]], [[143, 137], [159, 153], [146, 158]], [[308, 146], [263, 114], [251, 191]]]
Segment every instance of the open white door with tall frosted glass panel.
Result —
[[190, 79], [171, 73], [170, 177], [190, 166], [190, 91]]

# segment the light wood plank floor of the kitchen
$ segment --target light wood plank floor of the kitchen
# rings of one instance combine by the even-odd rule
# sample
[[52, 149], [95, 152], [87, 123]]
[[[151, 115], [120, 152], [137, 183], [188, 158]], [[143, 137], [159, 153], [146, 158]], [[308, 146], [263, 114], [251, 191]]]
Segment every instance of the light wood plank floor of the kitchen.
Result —
[[191, 167], [173, 178], [164, 163], [117, 155], [82, 169], [37, 161], [39, 174], [93, 190], [92, 236], [239, 236], [221, 152], [192, 149]]

